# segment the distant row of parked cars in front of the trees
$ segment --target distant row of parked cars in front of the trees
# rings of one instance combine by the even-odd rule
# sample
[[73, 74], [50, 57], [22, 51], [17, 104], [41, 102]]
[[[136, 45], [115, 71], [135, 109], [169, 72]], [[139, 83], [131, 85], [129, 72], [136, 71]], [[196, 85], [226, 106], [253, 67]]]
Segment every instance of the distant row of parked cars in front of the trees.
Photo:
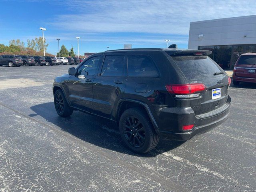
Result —
[[78, 65], [85, 58], [76, 57], [51, 57], [51, 56], [29, 56], [29, 55], [1, 55], [0, 66], [52, 66], [52, 65]]

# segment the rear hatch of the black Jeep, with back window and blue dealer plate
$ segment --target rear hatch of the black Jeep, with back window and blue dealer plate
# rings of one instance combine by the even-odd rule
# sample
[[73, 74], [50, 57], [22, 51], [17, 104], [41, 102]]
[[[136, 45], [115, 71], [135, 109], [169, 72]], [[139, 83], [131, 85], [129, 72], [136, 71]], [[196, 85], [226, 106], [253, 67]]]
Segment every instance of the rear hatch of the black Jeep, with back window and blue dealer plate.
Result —
[[[166, 51], [168, 52], [168, 51]], [[189, 98], [196, 115], [222, 107], [228, 99], [229, 80], [227, 74], [207, 55], [210, 52], [184, 51], [168, 53], [182, 71], [189, 84], [204, 84], [200, 96]]]

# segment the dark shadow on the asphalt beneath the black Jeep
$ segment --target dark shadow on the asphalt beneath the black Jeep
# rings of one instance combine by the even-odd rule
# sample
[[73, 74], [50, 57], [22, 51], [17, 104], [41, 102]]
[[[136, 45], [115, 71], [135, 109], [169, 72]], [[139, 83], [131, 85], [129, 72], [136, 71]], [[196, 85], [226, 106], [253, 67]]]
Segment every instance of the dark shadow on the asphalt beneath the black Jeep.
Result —
[[38, 104], [30, 108], [35, 112], [30, 114], [30, 117], [41, 121], [43, 118], [47, 122], [56, 125], [55, 128], [60, 128], [62, 131], [68, 132], [84, 142], [123, 154], [154, 157], [177, 148], [184, 143], [183, 141], [160, 140], [154, 150], [146, 154], [136, 154], [122, 144], [116, 122], [80, 111], [74, 111], [70, 117], [63, 118], [56, 113], [54, 102]]

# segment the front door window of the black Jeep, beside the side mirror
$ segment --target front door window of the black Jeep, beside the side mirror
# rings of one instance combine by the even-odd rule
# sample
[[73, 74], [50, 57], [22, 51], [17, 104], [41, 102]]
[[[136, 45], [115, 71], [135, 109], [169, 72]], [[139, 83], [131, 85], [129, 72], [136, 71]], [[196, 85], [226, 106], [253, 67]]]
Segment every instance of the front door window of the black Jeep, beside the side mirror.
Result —
[[98, 66], [99, 66], [99, 61], [100, 61], [101, 56], [96, 56], [88, 59], [84, 64], [82, 64], [78, 70], [77, 74], [78, 75], [96, 75]]

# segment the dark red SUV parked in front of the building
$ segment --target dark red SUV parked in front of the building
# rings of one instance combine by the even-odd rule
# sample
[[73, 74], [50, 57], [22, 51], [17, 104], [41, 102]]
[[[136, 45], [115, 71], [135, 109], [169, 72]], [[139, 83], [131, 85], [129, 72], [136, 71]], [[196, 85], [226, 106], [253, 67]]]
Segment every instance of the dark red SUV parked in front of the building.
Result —
[[256, 83], [256, 53], [241, 54], [234, 66], [233, 84], [240, 82]]

